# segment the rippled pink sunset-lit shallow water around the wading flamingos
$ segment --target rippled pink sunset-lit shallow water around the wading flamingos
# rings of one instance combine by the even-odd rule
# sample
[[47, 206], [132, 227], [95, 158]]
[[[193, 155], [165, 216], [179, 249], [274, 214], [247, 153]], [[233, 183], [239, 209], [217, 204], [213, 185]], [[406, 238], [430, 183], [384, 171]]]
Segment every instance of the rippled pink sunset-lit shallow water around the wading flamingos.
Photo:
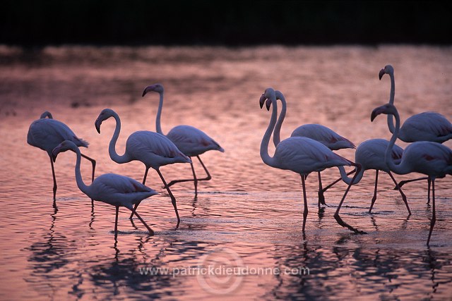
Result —
[[[396, 106], [403, 121], [421, 111], [439, 111], [450, 120], [451, 62], [450, 47], [0, 47], [0, 298], [451, 297], [450, 177], [436, 180], [430, 247], [425, 245], [432, 216], [427, 183], [403, 187], [412, 211], [408, 216], [391, 179], [380, 173], [379, 195], [369, 214], [374, 171], [364, 173], [341, 209], [344, 221], [366, 235], [350, 233], [333, 218], [343, 183], [326, 192], [328, 207], [319, 213], [314, 174], [307, 179], [303, 235], [299, 176], [261, 161], [270, 113], [258, 107], [266, 87], [285, 94], [283, 138], [303, 123], [322, 123], [356, 145], [389, 139], [386, 118], [370, 122], [371, 110], [388, 101], [389, 78], [379, 80], [379, 70], [387, 63], [396, 70]], [[194, 125], [225, 153], [201, 156], [213, 179], [199, 184], [197, 196], [191, 183], [172, 187], [182, 219], [178, 229], [169, 197], [150, 171], [146, 183], [160, 195], [145, 200], [139, 212], [155, 236], [146, 235], [141, 223], [131, 223], [121, 209], [115, 241], [114, 207], [100, 202], [92, 207], [78, 190], [72, 153], [60, 154], [55, 164], [58, 190], [52, 206], [49, 158], [27, 145], [26, 134], [42, 111], [52, 111], [90, 142], [83, 153], [97, 160], [96, 175], [114, 172], [141, 180], [141, 163], [109, 159], [114, 122], [102, 123], [100, 135], [93, 123], [105, 107], [119, 113], [121, 153], [131, 133], [155, 130], [158, 96], [141, 97], [154, 82], [165, 86], [164, 132]], [[452, 147], [450, 141], [445, 145]], [[354, 158], [352, 150], [338, 153]], [[82, 162], [88, 182], [90, 164]], [[195, 168], [202, 176], [198, 162]], [[188, 164], [161, 170], [167, 180], [191, 175]], [[322, 174], [326, 185], [338, 171]]]

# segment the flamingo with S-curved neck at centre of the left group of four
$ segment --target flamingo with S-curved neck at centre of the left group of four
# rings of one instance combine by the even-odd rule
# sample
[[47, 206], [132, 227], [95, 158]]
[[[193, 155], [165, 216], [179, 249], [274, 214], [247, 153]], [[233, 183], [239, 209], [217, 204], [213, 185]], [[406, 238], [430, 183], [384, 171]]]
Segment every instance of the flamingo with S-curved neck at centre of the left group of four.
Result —
[[[116, 152], [116, 142], [119, 137], [119, 132], [121, 131], [121, 120], [119, 119], [118, 114], [112, 109], [103, 109], [95, 121], [95, 127], [97, 133], [100, 133], [100, 125], [110, 117], [113, 117], [116, 121], [116, 128], [114, 129], [113, 137], [108, 147], [110, 158], [119, 164], [128, 163], [133, 160], [143, 162], [145, 165], [143, 185], [146, 183], [149, 168], [155, 169], [160, 176], [164, 187], [167, 189], [169, 197], [171, 197], [172, 206], [174, 207], [177, 216], [176, 227], [179, 227], [180, 218], [179, 212], [177, 211], [176, 198], [169, 189], [169, 185], [167, 185], [165, 178], [163, 178], [160, 167], [174, 163], [191, 163], [191, 159], [179, 151], [176, 145], [174, 145], [167, 137], [148, 130], [138, 130], [137, 132], [132, 133], [129, 138], [127, 138], [126, 151], [122, 156], [119, 156]], [[135, 209], [139, 204], [140, 201], [135, 203]], [[133, 214], [134, 212], [132, 211], [131, 218], [133, 217]]]

